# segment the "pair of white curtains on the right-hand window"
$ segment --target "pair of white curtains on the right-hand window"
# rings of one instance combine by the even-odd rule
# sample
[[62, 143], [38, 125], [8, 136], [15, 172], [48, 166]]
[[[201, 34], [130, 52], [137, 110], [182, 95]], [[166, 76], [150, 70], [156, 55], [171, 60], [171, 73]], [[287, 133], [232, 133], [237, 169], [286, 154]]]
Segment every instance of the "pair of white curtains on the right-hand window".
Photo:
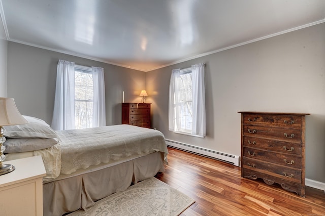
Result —
[[[205, 64], [191, 66], [192, 72], [192, 129], [191, 135], [204, 137], [206, 135], [206, 113], [205, 113]], [[180, 116], [180, 91], [181, 86], [180, 69], [172, 70], [169, 85], [169, 130], [181, 133]]]

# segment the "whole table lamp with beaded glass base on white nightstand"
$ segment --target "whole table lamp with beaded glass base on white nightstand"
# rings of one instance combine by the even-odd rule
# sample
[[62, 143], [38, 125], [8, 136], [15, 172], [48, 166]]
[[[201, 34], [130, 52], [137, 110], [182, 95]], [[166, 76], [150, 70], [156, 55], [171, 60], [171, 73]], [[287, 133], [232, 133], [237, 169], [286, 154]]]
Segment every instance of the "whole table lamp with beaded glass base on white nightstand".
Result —
[[5, 175], [15, 170], [11, 164], [3, 164], [6, 156], [3, 154], [6, 150], [4, 142], [6, 132], [3, 126], [27, 123], [26, 119], [19, 113], [13, 98], [0, 98], [0, 175]]

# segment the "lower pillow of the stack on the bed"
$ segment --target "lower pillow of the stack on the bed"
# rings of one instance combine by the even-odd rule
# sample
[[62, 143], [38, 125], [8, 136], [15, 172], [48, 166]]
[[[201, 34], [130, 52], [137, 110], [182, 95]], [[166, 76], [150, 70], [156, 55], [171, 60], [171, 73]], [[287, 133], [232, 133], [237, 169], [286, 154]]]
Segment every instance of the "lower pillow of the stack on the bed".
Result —
[[6, 146], [5, 153], [17, 153], [36, 151], [50, 148], [58, 143], [56, 138], [32, 138], [32, 139], [15, 139], [8, 138], [4, 145]]

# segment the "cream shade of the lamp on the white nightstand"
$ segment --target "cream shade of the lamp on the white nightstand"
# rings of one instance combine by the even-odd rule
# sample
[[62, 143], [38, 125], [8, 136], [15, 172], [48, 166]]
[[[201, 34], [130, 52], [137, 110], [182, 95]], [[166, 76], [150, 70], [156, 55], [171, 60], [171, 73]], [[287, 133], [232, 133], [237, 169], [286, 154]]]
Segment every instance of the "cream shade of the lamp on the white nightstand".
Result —
[[18, 111], [15, 99], [0, 98], [0, 125], [5, 126], [24, 123], [27, 123], [27, 121]]

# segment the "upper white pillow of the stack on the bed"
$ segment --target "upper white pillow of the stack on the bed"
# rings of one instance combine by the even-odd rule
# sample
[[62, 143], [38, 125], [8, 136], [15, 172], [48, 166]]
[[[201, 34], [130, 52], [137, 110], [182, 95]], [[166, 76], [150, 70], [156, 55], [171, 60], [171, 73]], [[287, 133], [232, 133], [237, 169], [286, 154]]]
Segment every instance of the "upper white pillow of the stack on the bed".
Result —
[[6, 129], [4, 136], [8, 138], [58, 138], [50, 126], [42, 123], [28, 122], [4, 127]]

